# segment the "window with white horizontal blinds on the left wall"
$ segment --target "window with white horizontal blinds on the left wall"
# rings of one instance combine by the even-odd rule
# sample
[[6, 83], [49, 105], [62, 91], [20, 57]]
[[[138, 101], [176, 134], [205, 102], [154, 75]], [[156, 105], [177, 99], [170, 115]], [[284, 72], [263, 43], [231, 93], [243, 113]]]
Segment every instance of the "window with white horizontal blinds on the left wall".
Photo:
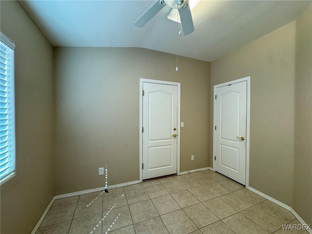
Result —
[[14, 43], [0, 32], [0, 182], [15, 174]]

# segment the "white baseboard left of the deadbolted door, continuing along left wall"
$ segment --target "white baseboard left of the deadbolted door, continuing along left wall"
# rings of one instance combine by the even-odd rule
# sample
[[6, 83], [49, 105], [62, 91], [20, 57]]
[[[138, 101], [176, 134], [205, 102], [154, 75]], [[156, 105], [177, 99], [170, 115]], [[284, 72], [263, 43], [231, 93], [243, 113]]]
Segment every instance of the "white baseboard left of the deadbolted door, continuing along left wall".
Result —
[[[119, 187], [123, 187], [123, 186], [127, 186], [127, 185], [132, 185], [132, 184], [137, 184], [137, 183], [140, 183], [140, 181], [139, 180], [135, 180], [135, 181], [130, 181], [130, 182], [121, 183], [121, 184], [109, 185], [109, 186], [107, 186], [107, 189], [115, 189], [115, 188], [119, 188]], [[47, 208], [45, 209], [45, 211], [43, 212], [43, 214], [41, 215], [37, 225], [34, 227], [34, 229], [31, 232], [31, 234], [36, 234], [36, 232], [37, 232], [37, 230], [38, 230], [38, 228], [39, 228], [43, 218], [48, 213], [48, 211], [50, 210], [53, 202], [56, 199], [65, 198], [65, 197], [69, 197], [69, 196], [77, 196], [77, 195], [89, 194], [89, 193], [98, 192], [98, 191], [104, 191], [104, 190], [105, 190], [105, 187], [100, 187], [100, 188], [95, 188], [95, 189], [88, 189], [88, 190], [78, 191], [78, 192], [74, 192], [74, 193], [61, 194], [61, 195], [54, 196], [52, 198], [52, 200], [50, 201], [49, 205], [47, 206]]]

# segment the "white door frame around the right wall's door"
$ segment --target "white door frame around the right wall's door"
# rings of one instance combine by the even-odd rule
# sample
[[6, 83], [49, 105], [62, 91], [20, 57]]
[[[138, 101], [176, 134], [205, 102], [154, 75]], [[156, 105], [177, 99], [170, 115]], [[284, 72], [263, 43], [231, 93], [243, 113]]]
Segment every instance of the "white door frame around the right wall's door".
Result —
[[[240, 78], [240, 79], [235, 79], [235, 80], [231, 80], [229, 82], [226, 83], [222, 83], [222, 84], [217, 84], [214, 85], [214, 125], [215, 126], [215, 95], [216, 95], [216, 89], [223, 87], [223, 86], [227, 86], [230, 84], [235, 84], [235, 83], [239, 83], [242, 81], [247, 81], [247, 123], [246, 123], [246, 188], [249, 188], [249, 144], [250, 144], [250, 77], [244, 77], [244, 78]], [[214, 127], [213, 127], [214, 129]], [[214, 131], [214, 135], [213, 135], [213, 170], [215, 171], [215, 130]]]

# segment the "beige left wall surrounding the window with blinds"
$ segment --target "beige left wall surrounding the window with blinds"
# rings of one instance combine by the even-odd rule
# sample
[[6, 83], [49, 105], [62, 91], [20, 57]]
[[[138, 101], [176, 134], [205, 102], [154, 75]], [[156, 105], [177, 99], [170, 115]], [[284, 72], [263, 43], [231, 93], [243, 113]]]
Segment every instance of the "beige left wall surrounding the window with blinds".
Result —
[[16, 176], [1, 185], [1, 234], [29, 234], [54, 195], [53, 48], [18, 1], [0, 1], [15, 49]]

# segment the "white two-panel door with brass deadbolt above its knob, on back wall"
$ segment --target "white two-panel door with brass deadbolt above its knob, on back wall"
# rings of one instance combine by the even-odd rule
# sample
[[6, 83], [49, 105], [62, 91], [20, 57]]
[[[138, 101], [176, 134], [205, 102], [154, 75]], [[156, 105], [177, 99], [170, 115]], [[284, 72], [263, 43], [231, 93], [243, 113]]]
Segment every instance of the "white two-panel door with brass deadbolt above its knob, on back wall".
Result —
[[143, 82], [143, 179], [176, 173], [177, 86]]

